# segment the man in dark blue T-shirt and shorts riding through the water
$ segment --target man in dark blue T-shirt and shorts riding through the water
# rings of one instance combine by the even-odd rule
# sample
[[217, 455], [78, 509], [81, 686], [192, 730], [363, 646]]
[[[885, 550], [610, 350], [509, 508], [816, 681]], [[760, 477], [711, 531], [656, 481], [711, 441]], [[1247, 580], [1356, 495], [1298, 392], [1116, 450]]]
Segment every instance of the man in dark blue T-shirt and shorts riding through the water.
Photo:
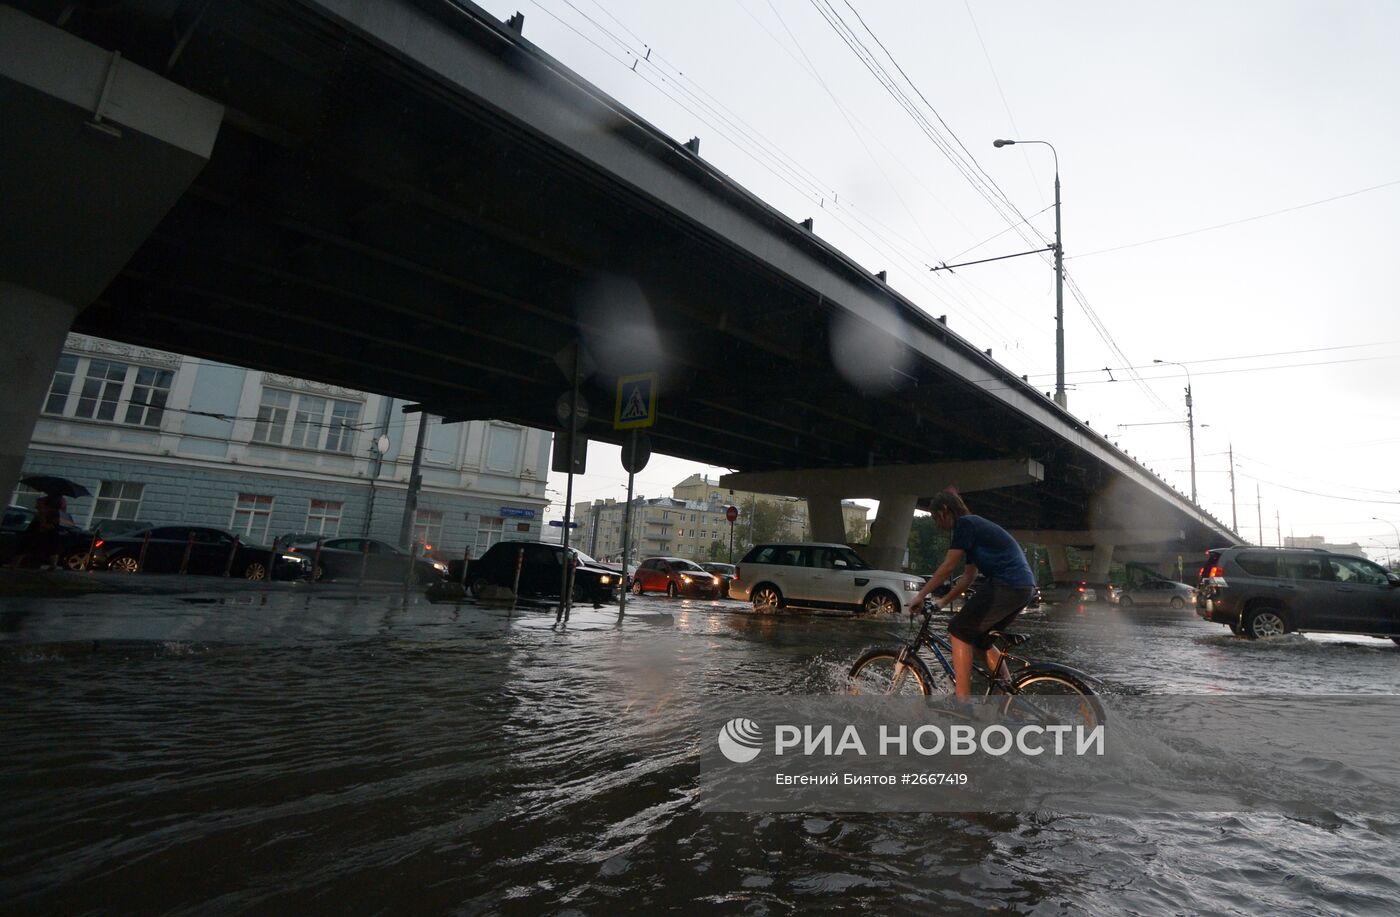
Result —
[[995, 522], [973, 515], [952, 490], [934, 496], [934, 522], [945, 532], [952, 532], [948, 556], [934, 575], [909, 603], [910, 616], [923, 610], [924, 596], [963, 568], [948, 595], [937, 599], [938, 608], [948, 608], [962, 595], [967, 585], [981, 571], [987, 584], [980, 587], [962, 610], [948, 622], [948, 636], [953, 645], [953, 686], [959, 697], [972, 693], [972, 661], [977, 651], [987, 654], [987, 671], [995, 672], [1001, 654], [991, 645], [993, 630], [1002, 630], [1025, 609], [1035, 594], [1035, 575], [1016, 539]]

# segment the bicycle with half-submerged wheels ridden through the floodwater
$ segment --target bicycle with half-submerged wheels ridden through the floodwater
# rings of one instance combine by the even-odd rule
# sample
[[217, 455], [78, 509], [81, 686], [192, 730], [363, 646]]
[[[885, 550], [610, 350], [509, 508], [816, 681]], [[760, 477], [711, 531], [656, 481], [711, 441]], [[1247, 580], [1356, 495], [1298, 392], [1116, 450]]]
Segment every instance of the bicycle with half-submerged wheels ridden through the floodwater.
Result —
[[[953, 665], [952, 644], [931, 629], [934, 617], [932, 599], [924, 599], [924, 620], [913, 640], [895, 634], [902, 644], [897, 648], [871, 650], [851, 666], [848, 692], [851, 694], [952, 694]], [[1029, 637], [991, 631], [993, 645], [1000, 651], [997, 669], [988, 672], [979, 659], [973, 662], [973, 676], [981, 678], [986, 694], [1007, 694], [1011, 697], [1081, 697], [1079, 713], [1089, 722], [1103, 721], [1103, 708], [1093, 697], [1091, 676], [1057, 662], [1032, 662], [1011, 654]], [[939, 671], [930, 671], [918, 651], [928, 647], [938, 659]], [[981, 655], [981, 654], [979, 654]], [[1012, 668], [1015, 664], [1015, 668]]]

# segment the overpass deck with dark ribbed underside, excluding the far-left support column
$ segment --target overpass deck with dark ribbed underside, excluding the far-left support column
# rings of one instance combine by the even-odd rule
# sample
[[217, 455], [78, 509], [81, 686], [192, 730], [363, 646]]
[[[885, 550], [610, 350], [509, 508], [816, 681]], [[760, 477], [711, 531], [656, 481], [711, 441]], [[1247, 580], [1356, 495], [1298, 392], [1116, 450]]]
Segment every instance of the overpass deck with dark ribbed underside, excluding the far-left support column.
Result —
[[[658, 452], [745, 472], [1009, 456], [1043, 475], [977, 494], [1008, 528], [1219, 540], [1042, 393], [480, 15], [382, 4], [416, 29], [409, 56], [351, 21], [377, 4], [17, 6], [50, 24], [71, 7], [74, 35], [225, 108], [207, 167], [73, 330], [542, 428], [580, 342], [594, 438], [617, 441], [617, 377], [657, 372]], [[767, 246], [707, 228], [724, 221]]]

